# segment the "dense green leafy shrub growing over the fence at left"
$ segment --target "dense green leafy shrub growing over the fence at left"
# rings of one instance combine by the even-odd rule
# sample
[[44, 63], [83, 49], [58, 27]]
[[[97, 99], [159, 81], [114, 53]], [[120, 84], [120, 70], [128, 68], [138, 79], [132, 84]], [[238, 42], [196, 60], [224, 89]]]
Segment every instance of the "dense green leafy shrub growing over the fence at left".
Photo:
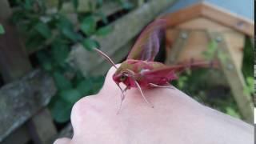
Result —
[[[123, 7], [131, 7], [129, 2], [114, 1]], [[65, 2], [73, 5], [78, 22], [71, 21], [68, 14], [62, 12]], [[102, 86], [102, 76], [94, 78], [87, 75], [85, 78], [66, 62], [71, 46], [81, 44], [86, 50], [92, 50], [95, 46], [99, 47], [99, 44], [91, 36], [106, 36], [111, 32], [106, 15], [98, 11], [102, 0], [96, 1], [95, 9], [90, 3], [90, 10], [86, 13], [78, 12], [78, 0], [59, 0], [55, 7], [48, 6], [45, 0], [13, 0], [12, 3], [18, 7], [12, 21], [25, 35], [26, 49], [36, 51], [38, 63], [52, 75], [58, 88], [50, 102], [54, 120], [66, 122], [70, 119], [74, 102], [85, 95], [95, 94]], [[97, 19], [102, 21], [102, 26], [98, 26]]]

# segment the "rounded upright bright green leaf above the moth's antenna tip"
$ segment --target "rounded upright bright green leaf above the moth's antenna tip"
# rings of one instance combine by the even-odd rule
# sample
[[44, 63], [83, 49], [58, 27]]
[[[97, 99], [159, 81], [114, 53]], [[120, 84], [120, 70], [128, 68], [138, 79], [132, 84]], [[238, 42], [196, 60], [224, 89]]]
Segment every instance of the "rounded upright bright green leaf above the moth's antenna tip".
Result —
[[80, 29], [84, 34], [88, 36], [94, 34], [94, 31], [96, 30], [96, 22], [94, 18], [92, 16], [83, 18]]

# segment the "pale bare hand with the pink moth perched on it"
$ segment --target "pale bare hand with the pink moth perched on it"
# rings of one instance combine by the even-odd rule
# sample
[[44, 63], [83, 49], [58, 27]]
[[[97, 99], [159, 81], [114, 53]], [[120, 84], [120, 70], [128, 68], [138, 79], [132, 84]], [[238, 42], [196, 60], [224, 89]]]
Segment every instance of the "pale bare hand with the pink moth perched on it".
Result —
[[144, 90], [151, 108], [136, 89], [120, 94], [112, 67], [102, 90], [73, 107], [74, 137], [54, 144], [253, 144], [254, 127], [203, 106], [178, 89]]

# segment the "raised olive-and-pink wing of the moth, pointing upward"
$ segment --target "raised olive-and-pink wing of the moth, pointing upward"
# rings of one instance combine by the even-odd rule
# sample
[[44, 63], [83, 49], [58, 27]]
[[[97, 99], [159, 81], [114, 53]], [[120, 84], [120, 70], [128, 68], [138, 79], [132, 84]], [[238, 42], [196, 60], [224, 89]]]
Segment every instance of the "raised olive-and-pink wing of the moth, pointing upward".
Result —
[[154, 61], [159, 51], [160, 41], [164, 37], [165, 27], [166, 20], [164, 19], [157, 19], [146, 26], [130, 50], [127, 59]]

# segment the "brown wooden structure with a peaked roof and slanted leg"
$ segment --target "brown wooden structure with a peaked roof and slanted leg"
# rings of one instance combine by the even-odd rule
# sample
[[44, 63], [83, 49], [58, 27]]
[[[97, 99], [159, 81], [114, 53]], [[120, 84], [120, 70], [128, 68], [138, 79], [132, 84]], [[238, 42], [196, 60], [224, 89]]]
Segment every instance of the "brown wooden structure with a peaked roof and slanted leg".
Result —
[[[226, 76], [238, 108], [247, 122], [253, 122], [253, 102], [243, 93], [245, 81], [242, 76], [242, 49], [245, 35], [254, 36], [254, 22], [230, 13], [209, 2], [198, 2], [192, 6], [165, 14], [166, 63], [205, 60], [202, 52], [211, 41], [218, 43], [220, 68]], [[218, 55], [217, 55], [218, 58]]]

